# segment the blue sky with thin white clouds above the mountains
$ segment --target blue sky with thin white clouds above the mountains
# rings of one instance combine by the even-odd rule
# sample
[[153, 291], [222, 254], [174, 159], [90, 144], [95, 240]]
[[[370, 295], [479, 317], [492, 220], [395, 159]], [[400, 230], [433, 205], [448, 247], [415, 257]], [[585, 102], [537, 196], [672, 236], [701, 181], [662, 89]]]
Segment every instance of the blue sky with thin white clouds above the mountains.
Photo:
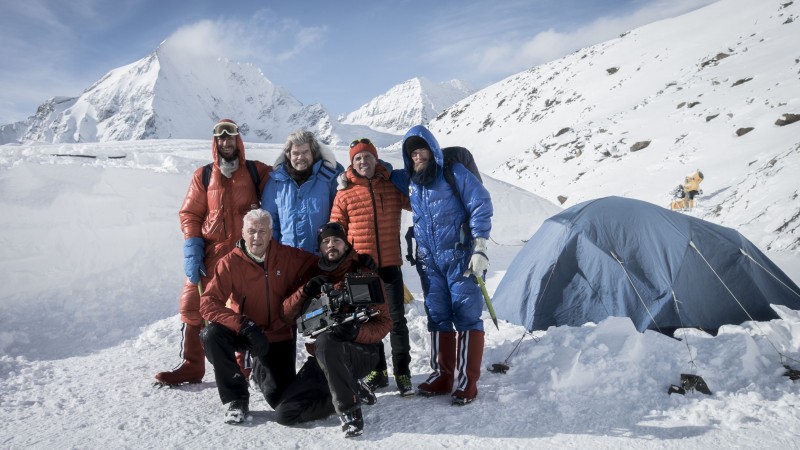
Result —
[[480, 89], [713, 1], [8, 1], [0, 124], [79, 95], [165, 39], [253, 63], [301, 102], [338, 115], [417, 76]]

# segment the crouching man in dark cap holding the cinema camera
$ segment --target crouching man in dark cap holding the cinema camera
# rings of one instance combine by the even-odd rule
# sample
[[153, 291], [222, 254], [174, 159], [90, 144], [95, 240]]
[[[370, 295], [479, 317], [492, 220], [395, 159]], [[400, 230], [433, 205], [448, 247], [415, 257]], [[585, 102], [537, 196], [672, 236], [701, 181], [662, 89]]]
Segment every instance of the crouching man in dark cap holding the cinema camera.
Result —
[[[346, 239], [344, 228], [336, 222], [320, 228], [317, 237], [319, 275], [284, 301], [283, 311], [287, 319], [299, 317], [308, 303], [320, 295], [325, 284], [331, 283], [341, 291], [344, 290], [347, 274], [361, 272], [376, 275], [372, 258], [356, 253]], [[382, 283], [380, 280], [378, 282], [381, 284], [381, 294], [385, 297]], [[352, 308], [352, 305], [344, 305], [341, 312], [352, 314]], [[286, 389], [281, 403], [275, 409], [278, 423], [294, 425], [322, 419], [335, 410], [346, 437], [362, 433], [364, 418], [361, 404], [375, 403], [375, 395], [359, 379], [375, 367], [378, 362], [377, 347], [383, 345], [381, 340], [392, 326], [385, 301], [370, 308], [377, 311], [377, 315], [366, 322], [353, 320], [334, 325], [319, 334], [313, 344], [306, 344], [312, 356]]]

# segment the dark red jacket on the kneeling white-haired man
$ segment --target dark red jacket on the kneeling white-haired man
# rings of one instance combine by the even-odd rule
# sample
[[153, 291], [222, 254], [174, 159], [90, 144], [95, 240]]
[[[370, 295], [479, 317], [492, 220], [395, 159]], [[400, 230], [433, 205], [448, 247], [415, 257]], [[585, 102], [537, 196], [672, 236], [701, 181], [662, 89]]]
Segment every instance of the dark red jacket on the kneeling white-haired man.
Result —
[[[251, 259], [244, 241], [219, 260], [200, 299], [200, 314], [209, 322], [239, 332], [242, 315], [252, 319], [270, 342], [294, 339], [283, 318], [283, 300], [314, 274], [318, 258], [312, 253], [271, 240], [263, 264]], [[225, 303], [230, 299], [230, 308]]]

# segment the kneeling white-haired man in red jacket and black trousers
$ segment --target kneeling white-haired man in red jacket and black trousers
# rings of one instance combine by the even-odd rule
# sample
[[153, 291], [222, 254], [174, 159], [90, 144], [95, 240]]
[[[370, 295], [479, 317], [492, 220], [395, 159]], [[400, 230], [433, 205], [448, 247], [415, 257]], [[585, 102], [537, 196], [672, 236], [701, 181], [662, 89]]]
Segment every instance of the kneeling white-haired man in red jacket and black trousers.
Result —
[[205, 354], [230, 424], [247, 418], [250, 401], [236, 352], [250, 351], [252, 378], [272, 408], [294, 379], [296, 339], [281, 303], [308, 281], [318, 260], [273, 240], [272, 217], [263, 209], [244, 216], [242, 236], [215, 266], [200, 301], [200, 314], [209, 322], [202, 333]]

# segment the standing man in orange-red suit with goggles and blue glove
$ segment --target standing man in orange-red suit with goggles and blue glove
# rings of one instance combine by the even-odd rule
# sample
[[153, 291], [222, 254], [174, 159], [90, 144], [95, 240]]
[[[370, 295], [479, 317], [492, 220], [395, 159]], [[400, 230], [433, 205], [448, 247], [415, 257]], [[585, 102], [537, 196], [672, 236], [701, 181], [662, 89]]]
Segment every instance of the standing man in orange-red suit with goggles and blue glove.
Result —
[[258, 208], [258, 193], [264, 189], [272, 171], [272, 167], [253, 161], [260, 180], [259, 186], [253, 185], [255, 180], [246, 167], [239, 127], [230, 119], [222, 119], [214, 126], [211, 155], [214, 162], [210, 173], [204, 180], [203, 167], [194, 172], [179, 212], [186, 272], [179, 307], [183, 321], [183, 361], [173, 370], [156, 374], [156, 383], [162, 385], [203, 380], [206, 360], [200, 342], [203, 318], [199, 311], [198, 285], [208, 284], [210, 278], [206, 269], [213, 269], [241, 239], [242, 216], [248, 210]]

